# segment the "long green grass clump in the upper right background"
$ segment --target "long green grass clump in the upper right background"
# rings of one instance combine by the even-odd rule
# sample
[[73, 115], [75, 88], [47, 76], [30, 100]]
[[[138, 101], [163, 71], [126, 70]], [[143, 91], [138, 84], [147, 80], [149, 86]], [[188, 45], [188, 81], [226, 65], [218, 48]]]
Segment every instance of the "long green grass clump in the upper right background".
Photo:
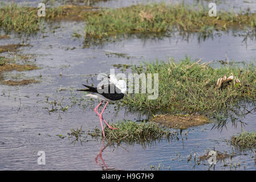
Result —
[[133, 5], [120, 9], [101, 10], [86, 20], [87, 38], [108, 38], [117, 34], [168, 33], [170, 31], [212, 33], [213, 30], [245, 27], [255, 28], [256, 14], [235, 14], [221, 11], [217, 17], [208, 15], [208, 8], [178, 5]]

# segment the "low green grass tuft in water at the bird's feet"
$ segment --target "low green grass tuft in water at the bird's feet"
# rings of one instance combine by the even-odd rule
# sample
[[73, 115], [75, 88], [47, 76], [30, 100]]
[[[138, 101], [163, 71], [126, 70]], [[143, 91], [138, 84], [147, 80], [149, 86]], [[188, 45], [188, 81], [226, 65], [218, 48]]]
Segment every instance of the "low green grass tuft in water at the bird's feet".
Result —
[[[104, 128], [105, 139], [109, 143], [125, 142], [131, 144], [137, 142], [146, 144], [156, 140], [169, 140], [174, 136], [169, 129], [159, 126], [154, 122], [118, 121], [117, 123], [109, 123], [109, 125], [117, 128], [117, 130], [111, 130], [108, 127]], [[94, 134], [93, 137], [99, 137], [102, 132], [99, 129], [95, 129], [91, 133]]]

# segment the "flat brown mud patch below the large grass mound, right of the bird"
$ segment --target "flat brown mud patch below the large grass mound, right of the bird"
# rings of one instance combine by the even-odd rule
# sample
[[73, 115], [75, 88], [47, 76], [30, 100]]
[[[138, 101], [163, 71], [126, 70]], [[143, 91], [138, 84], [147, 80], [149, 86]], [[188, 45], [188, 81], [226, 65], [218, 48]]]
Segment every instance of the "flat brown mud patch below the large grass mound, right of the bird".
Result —
[[188, 129], [189, 127], [204, 125], [211, 121], [204, 115], [164, 114], [155, 115], [151, 121], [161, 123], [167, 127], [176, 129]]

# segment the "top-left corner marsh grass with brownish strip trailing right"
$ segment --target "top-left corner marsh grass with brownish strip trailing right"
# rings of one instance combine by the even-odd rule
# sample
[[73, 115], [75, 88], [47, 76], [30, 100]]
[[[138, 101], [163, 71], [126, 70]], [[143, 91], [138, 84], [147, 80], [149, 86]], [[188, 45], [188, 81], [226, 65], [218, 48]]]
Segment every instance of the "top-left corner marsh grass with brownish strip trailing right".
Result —
[[46, 16], [38, 16], [38, 8], [20, 7], [12, 3], [0, 8], [0, 27], [6, 33], [27, 35], [42, 31], [44, 23], [56, 20], [84, 20], [92, 7], [64, 5], [46, 8]]

